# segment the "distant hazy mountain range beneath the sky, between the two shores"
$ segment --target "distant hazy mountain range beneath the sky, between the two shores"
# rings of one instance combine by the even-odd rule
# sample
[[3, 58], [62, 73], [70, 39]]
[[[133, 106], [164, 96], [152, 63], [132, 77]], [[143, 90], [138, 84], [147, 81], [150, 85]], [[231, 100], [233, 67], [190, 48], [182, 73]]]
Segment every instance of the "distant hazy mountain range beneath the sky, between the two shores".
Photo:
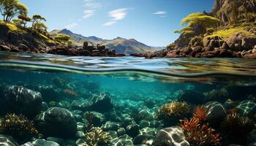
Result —
[[[110, 49], [115, 49], [116, 53], [125, 53], [125, 54], [132, 54], [132, 53], [148, 53], [154, 52], [159, 50], [160, 47], [151, 47], [145, 45], [141, 42], [138, 42], [135, 39], [124, 39], [121, 37], [117, 37], [116, 39], [101, 39], [99, 37], [83, 37], [80, 34], [74, 34], [72, 31], [67, 29], [62, 30], [54, 30], [51, 31], [50, 34], [54, 37], [57, 34], [67, 34], [72, 39], [74, 45], [83, 46], [83, 42], [89, 42], [89, 45], [97, 45], [102, 44], [106, 45], [106, 47]], [[161, 47], [162, 48], [162, 47]]]

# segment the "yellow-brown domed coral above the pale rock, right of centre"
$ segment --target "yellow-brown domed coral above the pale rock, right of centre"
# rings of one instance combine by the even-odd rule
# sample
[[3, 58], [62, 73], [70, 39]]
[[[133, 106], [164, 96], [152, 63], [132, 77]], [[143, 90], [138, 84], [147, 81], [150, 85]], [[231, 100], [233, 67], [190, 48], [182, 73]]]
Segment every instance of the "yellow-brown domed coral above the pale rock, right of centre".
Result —
[[182, 117], [189, 112], [189, 104], [187, 102], [171, 102], [170, 104], [164, 104], [157, 110], [158, 118], [173, 118]]

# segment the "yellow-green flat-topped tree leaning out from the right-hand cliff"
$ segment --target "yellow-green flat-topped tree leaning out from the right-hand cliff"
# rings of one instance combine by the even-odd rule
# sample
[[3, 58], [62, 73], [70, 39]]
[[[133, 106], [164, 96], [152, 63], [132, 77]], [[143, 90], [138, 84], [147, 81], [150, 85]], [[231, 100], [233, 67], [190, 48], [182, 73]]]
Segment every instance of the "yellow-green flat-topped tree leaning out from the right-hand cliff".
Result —
[[181, 25], [186, 25], [187, 27], [182, 28], [180, 31], [175, 31], [181, 34], [192, 34], [198, 31], [198, 34], [206, 34], [207, 28], [216, 28], [219, 26], [220, 20], [203, 12], [192, 13], [181, 20]]

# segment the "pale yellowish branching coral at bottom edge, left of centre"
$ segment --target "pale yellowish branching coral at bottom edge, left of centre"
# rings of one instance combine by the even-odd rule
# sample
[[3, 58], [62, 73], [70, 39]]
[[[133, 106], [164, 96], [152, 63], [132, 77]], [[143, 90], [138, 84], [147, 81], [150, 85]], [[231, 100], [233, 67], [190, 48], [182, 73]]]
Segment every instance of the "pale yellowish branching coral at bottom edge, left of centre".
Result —
[[110, 145], [110, 134], [102, 131], [102, 128], [92, 128], [85, 134], [82, 146], [107, 146]]

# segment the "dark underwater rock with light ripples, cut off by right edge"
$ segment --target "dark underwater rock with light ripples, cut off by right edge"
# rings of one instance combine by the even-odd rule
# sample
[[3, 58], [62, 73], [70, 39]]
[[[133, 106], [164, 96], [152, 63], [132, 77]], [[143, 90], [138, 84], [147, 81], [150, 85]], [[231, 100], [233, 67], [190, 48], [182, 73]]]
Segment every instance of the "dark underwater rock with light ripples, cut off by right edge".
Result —
[[241, 101], [236, 110], [243, 116], [254, 115], [256, 113], [256, 104], [249, 100]]

